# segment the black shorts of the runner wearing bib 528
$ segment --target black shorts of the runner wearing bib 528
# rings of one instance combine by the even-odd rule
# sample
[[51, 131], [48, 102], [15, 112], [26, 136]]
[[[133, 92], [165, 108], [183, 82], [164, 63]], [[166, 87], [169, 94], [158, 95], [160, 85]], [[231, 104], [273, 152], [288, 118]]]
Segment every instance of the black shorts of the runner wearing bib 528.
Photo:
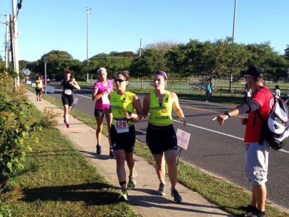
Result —
[[126, 153], [133, 152], [135, 148], [135, 126], [128, 127], [126, 133], [117, 133], [114, 125], [111, 125], [110, 140], [113, 150], [124, 149]]

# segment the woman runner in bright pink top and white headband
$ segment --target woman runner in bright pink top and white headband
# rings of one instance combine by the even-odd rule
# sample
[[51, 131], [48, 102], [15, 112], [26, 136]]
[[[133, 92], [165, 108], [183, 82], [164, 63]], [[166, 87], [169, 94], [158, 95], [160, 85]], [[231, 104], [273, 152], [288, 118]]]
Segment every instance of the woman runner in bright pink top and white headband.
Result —
[[[113, 92], [112, 90], [112, 80], [108, 80], [107, 77], [107, 71], [105, 68], [101, 67], [97, 69], [97, 74], [98, 74], [98, 81], [94, 83], [94, 87], [92, 90], [92, 96], [91, 99], [92, 101], [95, 102], [95, 109], [94, 109], [94, 116], [96, 119], [96, 124], [97, 124], [97, 129], [96, 129], [96, 139], [97, 139], [97, 144], [96, 144], [96, 153], [101, 154], [101, 131], [103, 127], [103, 117], [105, 115], [106, 122], [108, 125], [108, 134], [110, 133], [110, 127], [111, 127], [111, 122], [112, 122], [112, 113], [109, 114], [104, 114], [103, 109], [104, 108], [109, 108], [110, 107], [110, 102], [108, 100], [108, 94]], [[111, 141], [110, 141], [110, 135], [108, 135], [108, 141], [110, 145], [110, 152], [109, 156], [114, 157], [114, 153], [112, 150], [111, 146]]]

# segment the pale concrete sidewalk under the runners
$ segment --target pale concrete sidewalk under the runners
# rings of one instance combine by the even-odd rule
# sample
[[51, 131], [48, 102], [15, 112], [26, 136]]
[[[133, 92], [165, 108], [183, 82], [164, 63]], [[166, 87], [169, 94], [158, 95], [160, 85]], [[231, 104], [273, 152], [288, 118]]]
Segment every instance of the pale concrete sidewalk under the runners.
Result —
[[[57, 129], [71, 141], [73, 146], [82, 153], [89, 162], [115, 187], [119, 188], [119, 182], [116, 174], [115, 159], [111, 159], [109, 154], [108, 138], [102, 136], [102, 154], [95, 153], [96, 136], [95, 129], [84, 124], [80, 120], [69, 117], [70, 128], [66, 128], [63, 122], [63, 110], [48, 102], [45, 99], [36, 101], [35, 93], [28, 91], [27, 98], [40, 110], [53, 108], [55, 112], [60, 112], [61, 116], [57, 118]], [[91, 108], [93, 109], [93, 108]], [[194, 192], [181, 184], [177, 184], [183, 202], [175, 204], [170, 195], [170, 181], [166, 176], [166, 195], [156, 195], [158, 189], [158, 177], [155, 168], [145, 159], [134, 155], [135, 170], [138, 173], [137, 185], [134, 190], [128, 190], [129, 204], [136, 213], [152, 216], [233, 216], [221, 210], [220, 207], [208, 202], [202, 195]], [[126, 167], [127, 176], [128, 168]]]

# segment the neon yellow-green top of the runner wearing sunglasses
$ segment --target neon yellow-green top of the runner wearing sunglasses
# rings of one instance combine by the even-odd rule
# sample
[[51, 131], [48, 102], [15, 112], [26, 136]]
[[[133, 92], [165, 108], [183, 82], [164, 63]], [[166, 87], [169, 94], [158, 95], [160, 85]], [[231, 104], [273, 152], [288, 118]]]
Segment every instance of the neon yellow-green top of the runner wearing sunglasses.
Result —
[[[110, 93], [110, 108], [112, 111], [112, 117], [116, 119], [126, 119], [125, 113], [127, 111], [133, 112], [133, 96], [135, 94], [126, 91], [124, 95], [118, 95], [117, 91]], [[112, 119], [112, 124], [115, 125], [115, 120]], [[133, 121], [129, 120], [128, 125], [133, 125]]]

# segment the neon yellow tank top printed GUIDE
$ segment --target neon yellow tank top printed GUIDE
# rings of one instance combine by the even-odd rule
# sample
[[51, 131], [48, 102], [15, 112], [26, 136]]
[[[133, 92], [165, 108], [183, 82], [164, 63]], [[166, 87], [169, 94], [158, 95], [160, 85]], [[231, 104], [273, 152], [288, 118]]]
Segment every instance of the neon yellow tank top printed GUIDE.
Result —
[[149, 102], [149, 123], [154, 125], [170, 125], [172, 124], [172, 101], [170, 98], [170, 91], [165, 90], [163, 96], [163, 103], [160, 106], [156, 92], [151, 92], [151, 99]]

